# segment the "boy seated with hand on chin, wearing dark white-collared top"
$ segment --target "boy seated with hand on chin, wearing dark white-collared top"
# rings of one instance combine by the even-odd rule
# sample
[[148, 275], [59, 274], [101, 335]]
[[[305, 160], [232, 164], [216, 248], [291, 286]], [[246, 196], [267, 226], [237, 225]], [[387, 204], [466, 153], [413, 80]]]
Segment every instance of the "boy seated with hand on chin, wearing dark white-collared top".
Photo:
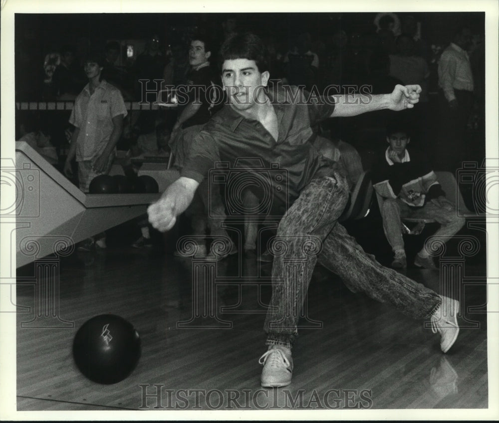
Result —
[[[403, 218], [433, 218], [441, 224], [435, 236], [446, 242], [464, 225], [455, 206], [450, 203], [424, 155], [408, 150], [411, 142], [403, 121], [391, 122], [386, 131], [389, 147], [373, 166], [371, 178], [376, 192], [383, 197], [380, 207], [383, 228], [395, 258], [392, 267], [405, 268], [407, 259], [402, 238]], [[425, 247], [414, 264], [426, 269], [436, 266]]]

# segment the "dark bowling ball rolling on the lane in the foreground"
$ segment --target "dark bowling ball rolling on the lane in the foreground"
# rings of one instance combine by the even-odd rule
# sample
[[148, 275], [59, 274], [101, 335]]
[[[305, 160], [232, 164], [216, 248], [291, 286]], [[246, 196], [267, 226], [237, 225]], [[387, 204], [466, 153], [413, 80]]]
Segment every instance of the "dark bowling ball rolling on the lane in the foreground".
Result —
[[120, 382], [139, 362], [139, 334], [120, 316], [92, 317], [76, 332], [73, 358], [80, 372], [91, 381], [106, 385]]

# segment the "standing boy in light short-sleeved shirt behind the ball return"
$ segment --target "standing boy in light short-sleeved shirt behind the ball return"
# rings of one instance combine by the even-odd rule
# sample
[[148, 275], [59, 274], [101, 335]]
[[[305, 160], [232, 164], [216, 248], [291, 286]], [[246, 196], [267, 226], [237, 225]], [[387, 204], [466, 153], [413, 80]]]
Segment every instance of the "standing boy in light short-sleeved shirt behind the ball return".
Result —
[[[88, 193], [93, 178], [109, 173], [123, 131], [123, 118], [127, 115], [120, 91], [102, 79], [104, 63], [98, 53], [88, 55], [84, 65], [88, 84], [76, 97], [69, 118], [75, 129], [64, 173], [72, 176], [71, 161], [76, 158], [79, 186], [84, 193]], [[89, 238], [80, 247], [88, 250], [93, 244], [94, 239]], [[106, 247], [103, 234], [95, 244]]]

